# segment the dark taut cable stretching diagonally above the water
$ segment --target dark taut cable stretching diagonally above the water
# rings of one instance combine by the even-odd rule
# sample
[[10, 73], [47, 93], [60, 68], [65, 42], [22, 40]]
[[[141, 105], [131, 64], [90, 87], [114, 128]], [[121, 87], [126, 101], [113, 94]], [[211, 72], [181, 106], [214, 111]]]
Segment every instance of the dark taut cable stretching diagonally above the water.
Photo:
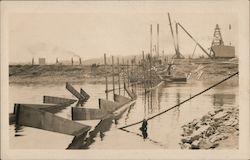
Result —
[[[218, 83], [216, 83], [216, 84], [210, 86], [209, 88], [207, 88], [207, 89], [205, 89], [205, 90], [203, 90], [203, 91], [201, 91], [201, 92], [195, 94], [194, 96], [192, 96], [192, 97], [190, 97], [190, 98], [188, 98], [188, 99], [186, 99], [186, 100], [180, 102], [179, 104], [176, 104], [176, 105], [173, 106], [173, 107], [170, 107], [170, 108], [166, 109], [165, 111], [162, 111], [162, 112], [160, 112], [160, 113], [158, 113], [158, 114], [156, 114], [156, 115], [154, 115], [154, 116], [152, 116], [152, 117], [147, 118], [146, 120], [147, 120], [147, 121], [148, 121], [148, 120], [151, 120], [151, 119], [153, 119], [153, 118], [155, 118], [155, 117], [157, 117], [157, 116], [162, 115], [163, 113], [166, 113], [166, 112], [168, 112], [168, 111], [170, 111], [170, 110], [172, 110], [172, 109], [174, 109], [174, 108], [180, 106], [181, 104], [183, 104], [183, 103], [185, 103], [185, 102], [187, 102], [187, 101], [189, 101], [189, 100], [191, 100], [191, 99], [193, 99], [193, 98], [195, 98], [195, 97], [197, 97], [197, 96], [203, 94], [204, 92], [206, 92], [206, 91], [208, 91], [208, 90], [210, 90], [210, 89], [216, 87], [217, 85], [219, 85], [219, 84], [221, 84], [221, 83], [227, 81], [228, 79], [230, 79], [230, 78], [236, 76], [237, 74], [239, 74], [239, 72], [236, 72], [236, 73], [234, 73], [234, 74], [228, 76], [227, 78], [225, 78], [225, 79], [221, 80], [220, 82], [218, 82]], [[131, 127], [131, 126], [140, 124], [140, 123], [142, 123], [142, 122], [143, 122], [143, 120], [138, 121], [138, 122], [135, 122], [135, 123], [132, 123], [132, 124], [129, 124], [129, 125], [126, 125], [126, 126], [123, 126], [123, 127], [120, 127], [120, 128], [118, 128], [118, 129], [128, 128], [128, 127]]]

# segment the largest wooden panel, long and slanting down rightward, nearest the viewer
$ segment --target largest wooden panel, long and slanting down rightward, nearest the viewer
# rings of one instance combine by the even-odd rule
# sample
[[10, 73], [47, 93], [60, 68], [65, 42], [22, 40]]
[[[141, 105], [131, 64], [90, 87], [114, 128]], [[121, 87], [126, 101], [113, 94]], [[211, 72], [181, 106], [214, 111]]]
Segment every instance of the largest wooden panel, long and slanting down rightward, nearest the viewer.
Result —
[[16, 124], [47, 131], [79, 136], [90, 130], [90, 126], [77, 123], [34, 107], [16, 105]]

